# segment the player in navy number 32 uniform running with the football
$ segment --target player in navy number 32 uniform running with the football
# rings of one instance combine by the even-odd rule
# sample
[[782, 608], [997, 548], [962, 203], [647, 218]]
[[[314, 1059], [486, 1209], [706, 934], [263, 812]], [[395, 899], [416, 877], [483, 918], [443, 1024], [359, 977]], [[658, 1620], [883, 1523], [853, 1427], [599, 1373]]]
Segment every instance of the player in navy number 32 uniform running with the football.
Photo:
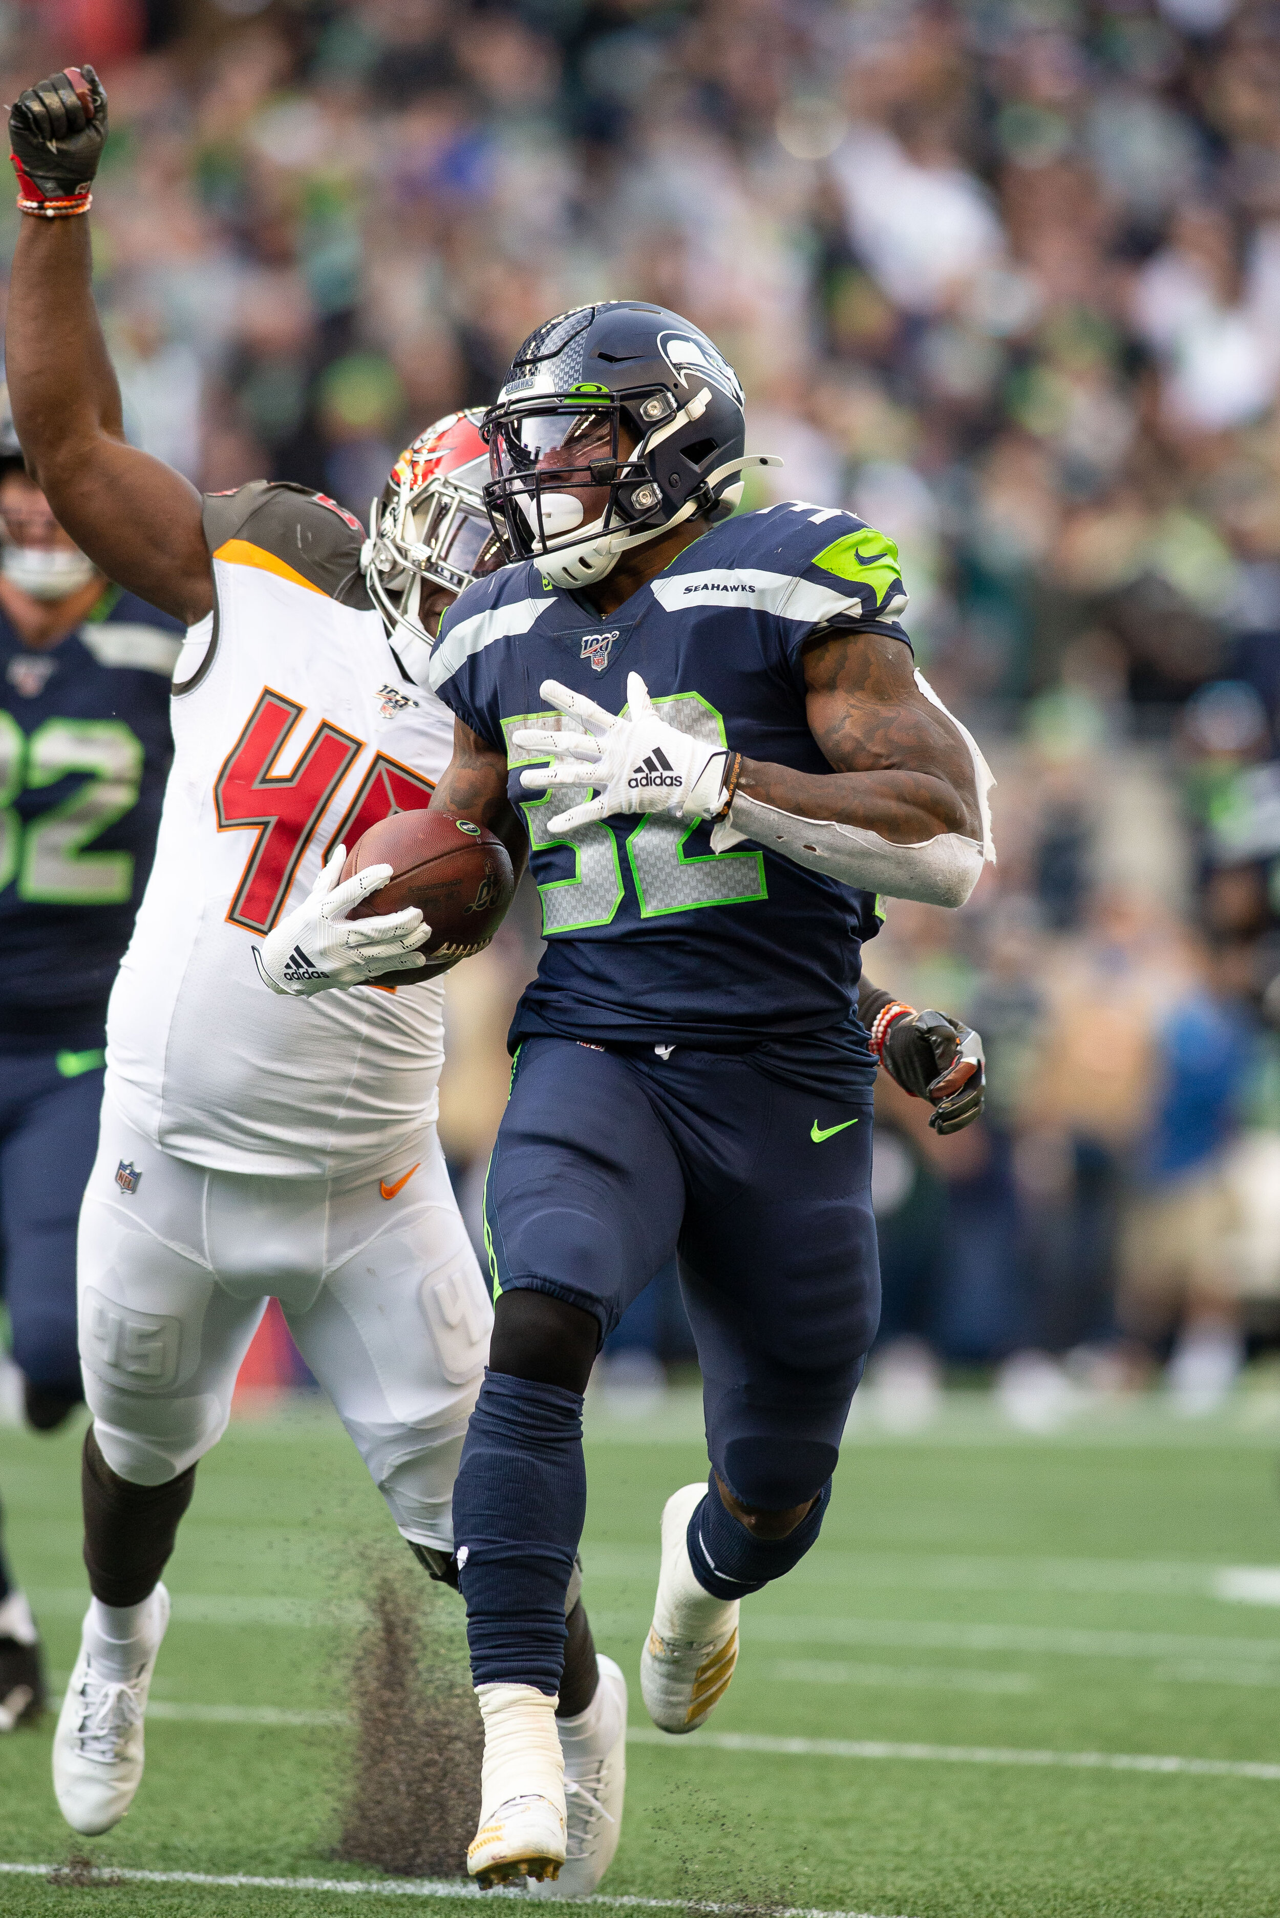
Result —
[[549, 942], [510, 1028], [495, 1329], [453, 1504], [486, 1720], [468, 1866], [495, 1883], [564, 1855], [595, 1352], [677, 1252], [712, 1473], [666, 1506], [641, 1686], [687, 1732], [729, 1684], [741, 1598], [818, 1536], [875, 1337], [871, 1078], [896, 1017], [869, 1040], [856, 1013], [875, 894], [960, 905], [994, 850], [990, 773], [912, 669], [892, 543], [802, 501], [729, 518], [762, 460], [706, 336], [643, 303], [560, 315], [484, 432], [516, 564], [462, 593], [424, 677], [457, 721], [432, 804], [524, 819]]

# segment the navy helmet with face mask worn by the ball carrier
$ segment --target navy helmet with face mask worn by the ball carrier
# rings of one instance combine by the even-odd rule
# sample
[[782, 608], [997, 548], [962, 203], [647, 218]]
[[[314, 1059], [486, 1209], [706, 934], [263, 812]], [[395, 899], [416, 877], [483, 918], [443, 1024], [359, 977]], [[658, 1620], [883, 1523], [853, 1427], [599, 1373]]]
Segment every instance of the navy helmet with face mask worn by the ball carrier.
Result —
[[[560, 587], [603, 579], [628, 547], [733, 512], [745, 466], [743, 387], [716, 345], [666, 307], [608, 299], [530, 334], [484, 416], [493, 531]], [[601, 499], [583, 524], [580, 489]]]

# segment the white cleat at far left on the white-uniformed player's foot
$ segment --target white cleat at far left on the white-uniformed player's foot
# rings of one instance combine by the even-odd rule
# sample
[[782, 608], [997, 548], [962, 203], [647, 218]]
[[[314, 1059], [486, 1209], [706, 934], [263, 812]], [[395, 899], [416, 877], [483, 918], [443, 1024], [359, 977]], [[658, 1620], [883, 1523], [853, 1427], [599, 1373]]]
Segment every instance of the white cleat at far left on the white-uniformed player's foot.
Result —
[[54, 1732], [54, 1791], [63, 1818], [84, 1837], [119, 1824], [142, 1782], [146, 1696], [169, 1625], [163, 1584], [155, 1586], [152, 1603], [150, 1649], [129, 1678], [109, 1676], [88, 1644], [88, 1630], [81, 1632], [81, 1655]]

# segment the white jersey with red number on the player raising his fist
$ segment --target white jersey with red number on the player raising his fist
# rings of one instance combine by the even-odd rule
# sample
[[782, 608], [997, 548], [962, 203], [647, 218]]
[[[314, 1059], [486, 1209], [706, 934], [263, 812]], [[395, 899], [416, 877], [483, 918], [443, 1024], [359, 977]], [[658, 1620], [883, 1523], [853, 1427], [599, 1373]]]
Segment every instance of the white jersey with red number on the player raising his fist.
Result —
[[155, 865], [107, 1015], [107, 1086], [155, 1145], [223, 1172], [395, 1162], [436, 1116], [439, 980], [280, 997], [251, 947], [332, 850], [426, 806], [451, 713], [407, 681], [322, 495], [209, 497], [215, 612], [173, 687]]

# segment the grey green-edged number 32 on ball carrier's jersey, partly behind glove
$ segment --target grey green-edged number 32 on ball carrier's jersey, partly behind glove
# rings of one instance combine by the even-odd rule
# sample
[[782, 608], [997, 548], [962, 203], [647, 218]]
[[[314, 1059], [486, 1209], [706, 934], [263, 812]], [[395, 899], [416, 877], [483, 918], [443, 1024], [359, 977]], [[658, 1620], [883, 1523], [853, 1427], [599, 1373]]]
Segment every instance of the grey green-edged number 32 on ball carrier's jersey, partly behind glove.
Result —
[[[725, 744], [720, 713], [699, 692], [676, 692], [670, 698], [654, 700], [654, 706], [660, 706], [668, 725], [681, 733], [706, 740], [708, 746]], [[558, 713], [551, 712], [514, 713], [510, 719], [503, 719], [510, 767], [537, 761], [537, 754], [522, 752], [512, 744], [512, 733], [543, 719], [560, 719], [560, 725], [566, 725]], [[606, 821], [578, 827], [568, 834], [557, 834], [549, 827], [553, 813], [580, 806], [589, 794], [589, 784], [557, 786], [541, 800], [520, 800], [530, 830], [533, 877], [537, 877], [541, 852], [553, 846], [570, 846], [574, 852], [572, 878], [539, 880], [537, 886], [547, 938], [555, 932], [606, 926], [624, 900], [618, 838]], [[695, 830], [697, 821], [674, 819], [670, 813], [645, 813], [629, 830], [626, 852], [641, 919], [656, 919], [662, 913], [691, 913], [700, 905], [743, 905], [748, 900], [768, 898], [764, 854], [687, 854], [685, 842]]]

